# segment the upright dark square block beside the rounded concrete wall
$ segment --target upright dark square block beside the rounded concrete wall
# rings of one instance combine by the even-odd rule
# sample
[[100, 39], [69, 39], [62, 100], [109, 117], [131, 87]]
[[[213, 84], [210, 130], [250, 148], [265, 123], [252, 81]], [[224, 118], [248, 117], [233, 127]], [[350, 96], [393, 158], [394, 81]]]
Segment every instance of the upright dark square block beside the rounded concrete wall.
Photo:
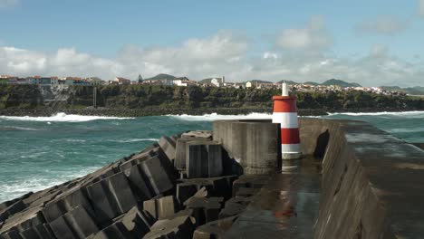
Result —
[[194, 140], [186, 144], [188, 178], [219, 177], [222, 166], [222, 148], [216, 141]]

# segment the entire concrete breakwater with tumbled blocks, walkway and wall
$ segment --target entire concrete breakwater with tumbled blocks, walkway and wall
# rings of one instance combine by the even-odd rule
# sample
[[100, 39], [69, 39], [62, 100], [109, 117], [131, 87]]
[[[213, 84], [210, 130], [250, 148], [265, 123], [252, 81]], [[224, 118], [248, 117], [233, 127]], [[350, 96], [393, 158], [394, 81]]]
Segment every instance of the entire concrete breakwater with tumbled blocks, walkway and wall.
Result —
[[424, 151], [371, 125], [219, 120], [85, 177], [0, 204], [0, 238], [419, 238]]

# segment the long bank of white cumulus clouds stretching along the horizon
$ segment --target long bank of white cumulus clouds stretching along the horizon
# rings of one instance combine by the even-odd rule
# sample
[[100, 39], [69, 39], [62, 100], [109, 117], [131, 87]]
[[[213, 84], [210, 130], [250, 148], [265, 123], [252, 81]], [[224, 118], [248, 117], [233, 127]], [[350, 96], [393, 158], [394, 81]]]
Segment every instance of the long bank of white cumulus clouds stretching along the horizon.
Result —
[[[323, 29], [323, 23], [313, 23], [308, 29]], [[304, 52], [308, 51], [310, 48], [304, 48]], [[422, 65], [420, 59], [411, 63], [390, 55], [390, 49], [382, 44], [372, 45], [369, 53], [356, 58], [336, 57], [324, 51], [289, 53], [285, 49], [252, 54], [246, 36], [229, 31], [188, 39], [175, 47], [127, 45], [112, 59], [80, 53], [74, 48], [43, 53], [0, 47], [0, 74], [99, 76], [104, 80], [115, 76], [135, 80], [139, 73], [143, 77], [169, 73], [193, 80], [220, 75], [228, 81], [337, 78], [365, 86], [412, 86], [423, 84]]]

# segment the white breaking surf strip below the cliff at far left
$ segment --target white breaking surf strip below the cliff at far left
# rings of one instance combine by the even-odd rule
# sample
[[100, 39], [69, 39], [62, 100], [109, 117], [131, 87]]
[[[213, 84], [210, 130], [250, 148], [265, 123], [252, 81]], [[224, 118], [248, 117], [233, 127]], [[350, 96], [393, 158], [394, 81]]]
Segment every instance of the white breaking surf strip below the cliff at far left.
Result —
[[88, 116], [88, 115], [68, 115], [65, 113], [57, 113], [50, 117], [30, 117], [30, 116], [0, 116], [0, 119], [21, 120], [21, 121], [41, 121], [41, 122], [85, 122], [97, 119], [134, 119], [107, 116]]

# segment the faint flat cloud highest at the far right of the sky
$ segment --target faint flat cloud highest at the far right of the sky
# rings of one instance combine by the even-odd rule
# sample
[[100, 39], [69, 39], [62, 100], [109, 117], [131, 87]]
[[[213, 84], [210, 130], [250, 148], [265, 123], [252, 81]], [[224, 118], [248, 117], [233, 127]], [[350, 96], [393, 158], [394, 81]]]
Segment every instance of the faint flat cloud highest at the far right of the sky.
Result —
[[393, 35], [408, 28], [408, 23], [394, 16], [381, 15], [356, 25], [357, 33]]

